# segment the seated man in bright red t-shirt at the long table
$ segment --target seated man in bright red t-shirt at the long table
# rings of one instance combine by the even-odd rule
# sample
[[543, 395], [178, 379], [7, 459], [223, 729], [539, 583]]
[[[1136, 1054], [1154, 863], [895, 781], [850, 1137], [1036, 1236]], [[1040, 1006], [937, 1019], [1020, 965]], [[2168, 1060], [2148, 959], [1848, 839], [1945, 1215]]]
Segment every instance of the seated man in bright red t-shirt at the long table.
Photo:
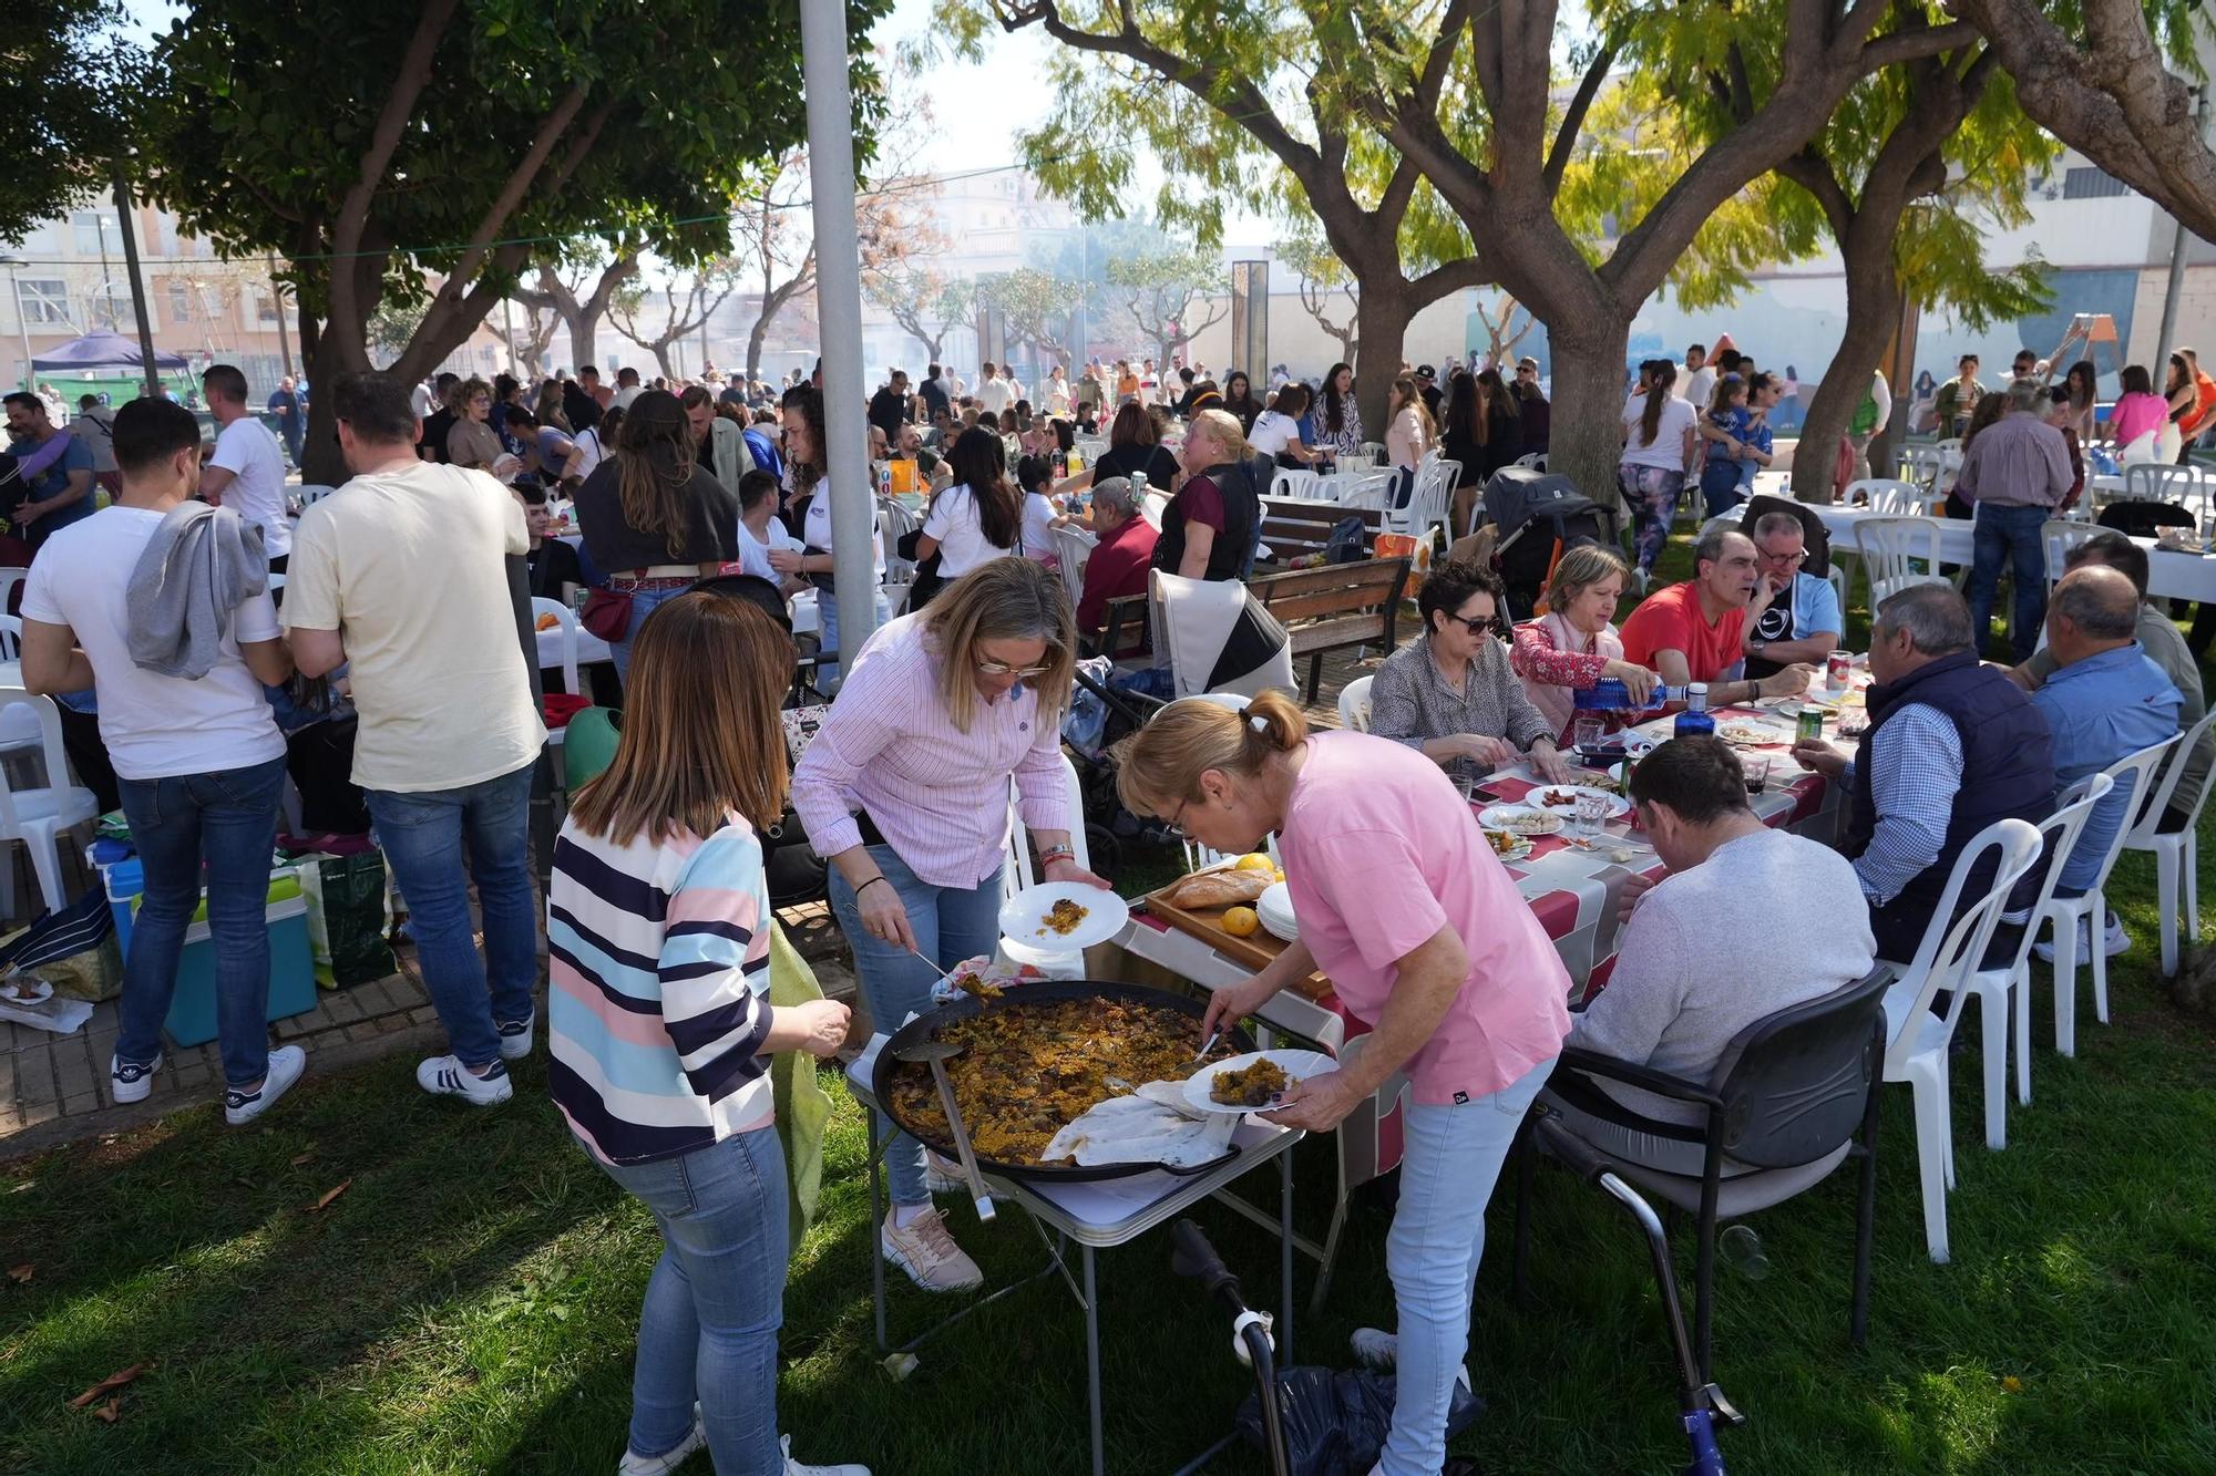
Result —
[[1793, 696], [1808, 687], [1813, 665], [1795, 663], [1753, 683], [1720, 680], [1740, 665], [1746, 627], [1773, 596], [1753, 539], [1737, 530], [1704, 534], [1693, 545], [1693, 578], [1649, 594], [1624, 621], [1624, 660], [1651, 667], [1666, 687], [1709, 683], [1709, 707]]

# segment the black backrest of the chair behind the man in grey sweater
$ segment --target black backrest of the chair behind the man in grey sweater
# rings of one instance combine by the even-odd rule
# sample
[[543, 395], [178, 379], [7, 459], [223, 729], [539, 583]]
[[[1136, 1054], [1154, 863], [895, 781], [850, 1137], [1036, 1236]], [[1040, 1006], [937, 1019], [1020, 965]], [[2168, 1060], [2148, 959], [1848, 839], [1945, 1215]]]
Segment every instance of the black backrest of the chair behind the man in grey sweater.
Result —
[[1813, 1164], [1855, 1137], [1884, 1068], [1881, 1026], [1892, 968], [1764, 1015], [1740, 1031], [1709, 1075], [1724, 1099], [1724, 1150], [1757, 1168]]

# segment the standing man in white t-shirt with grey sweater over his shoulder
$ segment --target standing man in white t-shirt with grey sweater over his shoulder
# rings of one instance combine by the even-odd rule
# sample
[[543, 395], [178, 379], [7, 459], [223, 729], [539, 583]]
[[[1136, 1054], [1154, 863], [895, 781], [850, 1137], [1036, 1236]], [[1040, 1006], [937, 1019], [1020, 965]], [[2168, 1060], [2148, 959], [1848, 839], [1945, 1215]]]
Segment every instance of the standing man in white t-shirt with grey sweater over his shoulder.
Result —
[[100, 736], [144, 871], [109, 1057], [111, 1095], [144, 1101], [153, 1090], [206, 864], [224, 1119], [246, 1124], [308, 1064], [299, 1046], [270, 1050], [268, 1039], [266, 898], [286, 747], [261, 685], [286, 680], [293, 658], [268, 590], [255, 587], [224, 612], [228, 632], [206, 676], [162, 676], [133, 660], [131, 576], [164, 521], [237, 514], [188, 501], [199, 485], [199, 421], [184, 406], [133, 399], [115, 412], [113, 443], [122, 470], [115, 505], [55, 530], [24, 581], [22, 683], [42, 694], [98, 694]]

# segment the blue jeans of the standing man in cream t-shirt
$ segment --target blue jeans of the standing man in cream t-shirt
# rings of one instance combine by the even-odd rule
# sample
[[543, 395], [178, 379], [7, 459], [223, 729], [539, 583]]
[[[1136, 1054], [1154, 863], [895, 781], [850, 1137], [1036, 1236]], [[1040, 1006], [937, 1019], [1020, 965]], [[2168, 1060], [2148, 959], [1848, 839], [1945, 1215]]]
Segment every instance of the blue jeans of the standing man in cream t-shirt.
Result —
[[[501, 1055], [494, 1022], [532, 1017], [538, 906], [532, 900], [532, 769], [399, 793], [370, 789], [370, 820], [417, 940], [417, 966], [463, 1066]], [[470, 926], [470, 880], [485, 913], [485, 955]], [[490, 1000], [488, 1000], [490, 988]]]

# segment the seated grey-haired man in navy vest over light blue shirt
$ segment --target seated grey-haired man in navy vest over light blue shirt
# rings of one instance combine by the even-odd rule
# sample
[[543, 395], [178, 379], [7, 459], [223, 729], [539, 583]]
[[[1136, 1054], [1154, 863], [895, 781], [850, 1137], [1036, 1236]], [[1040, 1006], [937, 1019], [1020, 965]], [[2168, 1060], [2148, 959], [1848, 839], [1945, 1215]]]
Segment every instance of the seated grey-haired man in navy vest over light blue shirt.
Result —
[[[1952, 585], [1915, 585], [1877, 607], [1870, 676], [1855, 758], [1828, 742], [1797, 742], [1793, 758], [1846, 785], [1841, 849], [1870, 902], [1877, 957], [1908, 962], [1961, 849], [1994, 820], [2039, 824], [2054, 809], [2054, 751], [2023, 689], [1977, 660]], [[1990, 886], [1990, 871], [1972, 875], [1961, 902]]]

